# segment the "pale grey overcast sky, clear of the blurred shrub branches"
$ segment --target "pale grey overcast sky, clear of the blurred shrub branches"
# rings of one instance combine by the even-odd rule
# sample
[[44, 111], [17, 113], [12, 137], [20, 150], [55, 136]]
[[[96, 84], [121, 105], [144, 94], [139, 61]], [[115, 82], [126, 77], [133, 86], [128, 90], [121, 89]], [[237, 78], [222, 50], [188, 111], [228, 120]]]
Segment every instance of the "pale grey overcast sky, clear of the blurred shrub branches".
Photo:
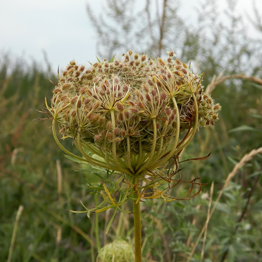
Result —
[[[193, 7], [200, 1], [181, 1], [183, 17], [194, 15]], [[86, 5], [91, 4], [95, 14], [99, 15], [103, 13], [105, 2], [106, 0], [1, 0], [0, 52], [9, 52], [14, 57], [42, 63], [44, 50], [53, 71], [58, 65], [65, 67], [72, 59], [83, 64], [87, 64], [88, 60], [95, 61], [96, 31], [88, 19]], [[238, 0], [239, 14], [252, 14], [252, 2]], [[262, 1], [255, 2], [262, 14]], [[221, 0], [221, 8], [224, 6], [226, 0]]]

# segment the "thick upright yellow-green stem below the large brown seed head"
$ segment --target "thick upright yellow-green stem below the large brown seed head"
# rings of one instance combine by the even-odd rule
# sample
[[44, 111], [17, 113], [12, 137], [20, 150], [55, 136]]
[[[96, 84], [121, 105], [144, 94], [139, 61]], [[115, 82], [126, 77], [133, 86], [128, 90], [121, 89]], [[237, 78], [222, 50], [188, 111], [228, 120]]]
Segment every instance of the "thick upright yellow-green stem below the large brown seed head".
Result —
[[[141, 253], [141, 217], [140, 202], [137, 202], [138, 194], [134, 192], [136, 199], [133, 200], [134, 228], [135, 228], [135, 262], [142, 261]], [[137, 203], [136, 203], [137, 202]]]

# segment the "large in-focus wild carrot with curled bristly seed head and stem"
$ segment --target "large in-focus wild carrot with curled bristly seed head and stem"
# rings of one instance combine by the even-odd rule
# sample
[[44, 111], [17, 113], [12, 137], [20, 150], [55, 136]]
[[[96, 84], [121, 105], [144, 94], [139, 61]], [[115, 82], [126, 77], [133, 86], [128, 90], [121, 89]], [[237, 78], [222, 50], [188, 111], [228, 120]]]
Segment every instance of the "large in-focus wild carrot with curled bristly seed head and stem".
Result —
[[[58, 76], [51, 107], [46, 103], [55, 141], [64, 152], [108, 170], [109, 180], [110, 172], [121, 175], [110, 187], [103, 179], [98, 187], [90, 185], [104, 191], [104, 202], [87, 212], [121, 210], [133, 199], [136, 261], [141, 261], [140, 198], [172, 200], [168, 187], [161, 187], [178, 181], [172, 179], [176, 170], [171, 164], [177, 167], [179, 152], [199, 126], [218, 119], [220, 105], [203, 92], [201, 80], [202, 75], [193, 74], [173, 51], [167, 59], [129, 51], [119, 59], [98, 60], [88, 69], [71, 61]], [[63, 147], [55, 124], [83, 157]]]

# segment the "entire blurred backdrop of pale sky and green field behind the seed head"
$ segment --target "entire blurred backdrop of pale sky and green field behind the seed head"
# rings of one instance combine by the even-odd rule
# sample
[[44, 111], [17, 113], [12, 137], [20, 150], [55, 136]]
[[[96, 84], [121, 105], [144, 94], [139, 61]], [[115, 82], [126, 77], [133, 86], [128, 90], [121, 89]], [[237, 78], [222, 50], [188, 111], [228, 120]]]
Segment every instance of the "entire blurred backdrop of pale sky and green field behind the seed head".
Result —
[[[142, 204], [145, 261], [261, 261], [261, 155], [227, 180], [245, 154], [262, 146], [259, 0], [0, 2], [0, 260], [94, 262], [116, 237], [132, 243], [128, 214], [118, 214], [105, 237], [111, 211], [90, 219], [67, 211], [84, 210], [80, 200], [92, 207], [101, 199], [89, 194], [90, 174], [75, 172], [79, 165], [63, 156], [51, 121], [32, 121], [46, 117], [36, 110], [44, 111], [45, 96], [50, 101], [49, 79], [56, 83], [58, 66], [60, 72], [72, 59], [88, 65], [129, 49], [163, 58], [174, 50], [193, 72], [205, 72], [203, 85], [222, 105], [220, 120], [200, 129], [182, 155], [211, 152], [206, 160], [184, 162], [180, 172], [207, 186], [190, 201]], [[75, 150], [71, 143], [66, 146]], [[187, 190], [179, 185], [171, 194]]]

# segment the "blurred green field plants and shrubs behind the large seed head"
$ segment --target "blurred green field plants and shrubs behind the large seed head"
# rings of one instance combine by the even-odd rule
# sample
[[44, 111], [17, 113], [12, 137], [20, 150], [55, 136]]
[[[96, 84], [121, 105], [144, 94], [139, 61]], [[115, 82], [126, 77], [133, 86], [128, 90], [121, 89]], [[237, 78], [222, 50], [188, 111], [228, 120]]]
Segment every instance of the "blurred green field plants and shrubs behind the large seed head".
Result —
[[[110, 17], [118, 17], [125, 25], [123, 12], [128, 12], [129, 1], [121, 1], [122, 10], [114, 6], [117, 1], [108, 2]], [[252, 39], [241, 27], [241, 19], [232, 13], [228, 13], [231, 26], [225, 27], [216, 20], [219, 15], [212, 9], [215, 1], [210, 2], [199, 13], [199, 30], [174, 16], [176, 10], [168, 6], [171, 2], [163, 1], [163, 7], [169, 8], [164, 15], [168, 23], [162, 24], [162, 34], [160, 30], [153, 31], [149, 36], [154, 38], [144, 38], [141, 46], [139, 41], [137, 46], [132, 44], [132, 39], [125, 46], [126, 43], [118, 43], [117, 39], [125, 39], [122, 33], [131, 29], [123, 26], [118, 36], [110, 31], [107, 41], [100, 41], [100, 50], [103, 43], [112, 43], [108, 44], [106, 54], [102, 54], [107, 57], [116, 50], [121, 53], [121, 48], [133, 47], [155, 57], [170, 46], [177, 48], [179, 57], [186, 63], [192, 59], [199, 73], [206, 72], [203, 83], [222, 105], [217, 124], [200, 130], [180, 159], [199, 158], [211, 152], [205, 160], [183, 162], [179, 167], [182, 180], [199, 177], [207, 183], [202, 192], [192, 200], [141, 202], [142, 256], [148, 262], [246, 262], [259, 261], [262, 256], [262, 154], [261, 150], [252, 152], [262, 146], [262, 46], [259, 42], [262, 27], [256, 14], [253, 24], [258, 35]], [[204, 16], [205, 12], [212, 15]], [[171, 15], [173, 20], [168, 19]], [[208, 19], [211, 22], [207, 23]], [[150, 25], [155, 30], [160, 28], [161, 21], [156, 19], [143, 25], [147, 30]], [[106, 25], [102, 28], [109, 32]], [[134, 23], [132, 32], [136, 28]], [[172, 34], [173, 28], [183, 29], [183, 34]], [[211, 31], [209, 36], [207, 31]], [[143, 30], [139, 32], [142, 34]], [[90, 194], [93, 190], [87, 187], [85, 177], [94, 184], [99, 184], [100, 178], [74, 171], [86, 167], [63, 156], [52, 136], [51, 120], [32, 121], [46, 117], [34, 109], [44, 111], [41, 109], [45, 107], [44, 97], [51, 98], [53, 89], [48, 77], [56, 82], [56, 76], [35, 63], [27, 65], [19, 60], [11, 66], [8, 55], [2, 54], [0, 59], [0, 261], [7, 261], [9, 256], [9, 261], [94, 262], [98, 250], [114, 239], [133, 244], [131, 215], [117, 213], [105, 236], [112, 210], [90, 214], [90, 219], [86, 214], [68, 211], [83, 211], [80, 201], [88, 208], [100, 203], [96, 194]], [[223, 76], [218, 76], [221, 71], [223, 76], [231, 77], [222, 79]], [[239, 73], [254, 77], [232, 76]], [[214, 76], [217, 77], [213, 79]], [[68, 141], [65, 146], [75, 150], [71, 143]], [[249, 152], [252, 152], [249, 158], [243, 159]], [[185, 196], [189, 186], [180, 183], [173, 188], [172, 196]], [[220, 192], [223, 192], [221, 197]], [[20, 209], [16, 221], [21, 205], [23, 210]], [[132, 210], [128, 203], [124, 205], [123, 209]], [[203, 230], [198, 241], [207, 222], [207, 230]]]

